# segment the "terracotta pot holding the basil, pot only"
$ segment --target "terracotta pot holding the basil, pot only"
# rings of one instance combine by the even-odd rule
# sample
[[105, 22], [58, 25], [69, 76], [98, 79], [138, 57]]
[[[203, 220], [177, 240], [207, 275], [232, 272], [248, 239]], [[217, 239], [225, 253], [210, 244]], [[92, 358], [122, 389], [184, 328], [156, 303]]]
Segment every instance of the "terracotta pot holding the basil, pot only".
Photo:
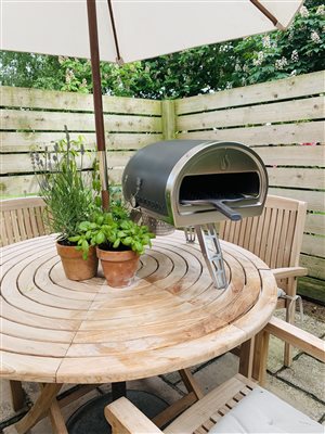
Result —
[[109, 286], [125, 288], [132, 283], [140, 255], [133, 251], [114, 252], [99, 247], [96, 247], [96, 253]]

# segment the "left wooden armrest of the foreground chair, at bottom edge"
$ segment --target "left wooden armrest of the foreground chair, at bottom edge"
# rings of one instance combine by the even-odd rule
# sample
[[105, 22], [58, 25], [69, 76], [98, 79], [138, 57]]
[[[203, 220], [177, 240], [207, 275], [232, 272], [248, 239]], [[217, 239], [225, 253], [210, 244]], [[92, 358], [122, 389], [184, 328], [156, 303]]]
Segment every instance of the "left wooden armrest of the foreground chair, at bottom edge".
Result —
[[113, 434], [162, 434], [129, 399], [122, 397], [105, 407]]

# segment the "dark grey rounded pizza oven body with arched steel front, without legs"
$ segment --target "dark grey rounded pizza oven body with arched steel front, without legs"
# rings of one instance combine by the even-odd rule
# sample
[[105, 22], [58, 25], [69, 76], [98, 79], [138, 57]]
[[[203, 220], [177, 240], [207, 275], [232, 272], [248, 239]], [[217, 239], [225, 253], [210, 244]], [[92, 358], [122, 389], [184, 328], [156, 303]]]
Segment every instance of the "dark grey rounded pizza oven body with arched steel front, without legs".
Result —
[[170, 140], [131, 157], [122, 189], [132, 206], [180, 228], [260, 215], [268, 174], [242, 143]]

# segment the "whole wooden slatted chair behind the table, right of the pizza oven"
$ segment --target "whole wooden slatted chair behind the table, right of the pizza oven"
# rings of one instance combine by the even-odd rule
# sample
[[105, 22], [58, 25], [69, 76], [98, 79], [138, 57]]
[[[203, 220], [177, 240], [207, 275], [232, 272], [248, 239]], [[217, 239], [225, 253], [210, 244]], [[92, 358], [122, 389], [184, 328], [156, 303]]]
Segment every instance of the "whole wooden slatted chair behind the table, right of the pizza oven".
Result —
[[[233, 222], [224, 220], [219, 228], [221, 240], [240, 245], [259, 256], [273, 270], [278, 288], [284, 291], [278, 308], [286, 307], [286, 320], [294, 323], [297, 277], [306, 276], [299, 267], [306, 202], [269, 195], [261, 216]], [[291, 350], [285, 345], [285, 366], [291, 363]]]

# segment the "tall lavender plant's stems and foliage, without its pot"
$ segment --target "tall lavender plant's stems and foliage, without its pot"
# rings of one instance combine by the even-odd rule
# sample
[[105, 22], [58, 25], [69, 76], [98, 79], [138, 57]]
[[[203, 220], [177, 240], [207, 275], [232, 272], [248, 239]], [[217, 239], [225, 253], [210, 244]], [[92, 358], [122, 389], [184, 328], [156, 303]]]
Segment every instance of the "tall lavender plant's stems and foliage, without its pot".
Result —
[[[65, 127], [66, 128], [66, 127]], [[84, 150], [83, 140], [66, 138], [56, 142], [53, 150], [31, 152], [31, 164], [43, 199], [46, 222], [58, 233], [62, 244], [70, 245], [69, 238], [78, 233], [78, 225], [87, 220], [101, 206], [96, 163]], [[84, 159], [92, 171], [82, 171]]]

